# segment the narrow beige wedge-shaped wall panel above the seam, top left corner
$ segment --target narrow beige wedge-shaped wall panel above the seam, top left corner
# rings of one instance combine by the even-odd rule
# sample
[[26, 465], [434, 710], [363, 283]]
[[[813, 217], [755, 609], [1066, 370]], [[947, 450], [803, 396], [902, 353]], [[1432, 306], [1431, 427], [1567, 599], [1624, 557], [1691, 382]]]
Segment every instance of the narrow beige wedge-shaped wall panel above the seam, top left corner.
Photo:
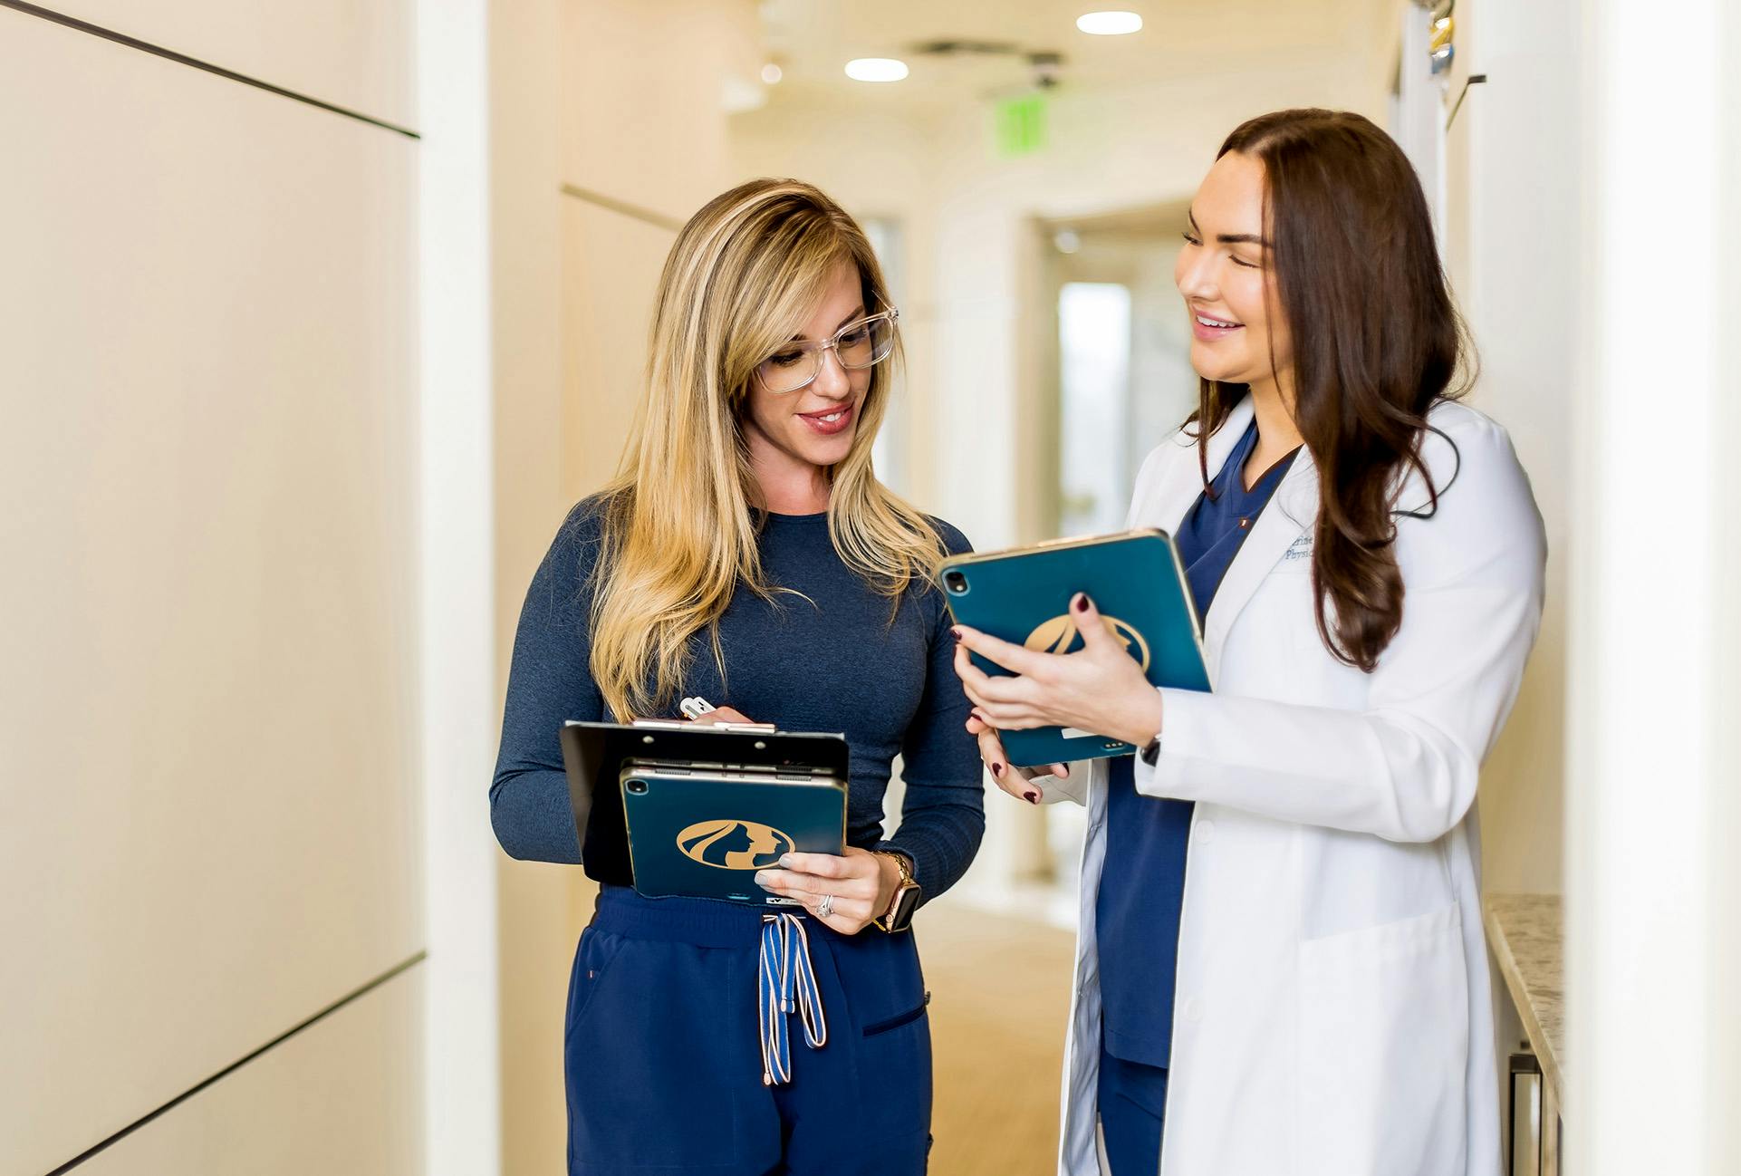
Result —
[[42, 7], [416, 129], [414, 0], [45, 0]]

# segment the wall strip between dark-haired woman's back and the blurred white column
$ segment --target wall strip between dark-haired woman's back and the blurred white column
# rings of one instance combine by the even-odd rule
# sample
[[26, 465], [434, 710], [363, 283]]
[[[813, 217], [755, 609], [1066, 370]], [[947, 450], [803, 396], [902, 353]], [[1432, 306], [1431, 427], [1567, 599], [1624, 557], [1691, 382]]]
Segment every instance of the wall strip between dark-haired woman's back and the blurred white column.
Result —
[[[1567, 549], [1579, 254], [1579, 0], [1457, 5], [1445, 136], [1445, 253], [1480, 357], [1471, 404], [1511, 434], [1548, 531], [1541, 638], [1482, 772], [1483, 887], [1563, 889]], [[1558, 127], [1558, 134], [1543, 134]]]

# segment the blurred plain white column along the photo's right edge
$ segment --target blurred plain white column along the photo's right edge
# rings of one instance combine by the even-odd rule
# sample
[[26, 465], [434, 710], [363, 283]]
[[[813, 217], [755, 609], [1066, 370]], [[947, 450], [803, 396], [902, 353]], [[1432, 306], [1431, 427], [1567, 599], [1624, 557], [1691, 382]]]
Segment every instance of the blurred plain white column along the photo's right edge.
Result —
[[1734, 1173], [1738, 17], [1729, 0], [1586, 12], [1569, 1171]]

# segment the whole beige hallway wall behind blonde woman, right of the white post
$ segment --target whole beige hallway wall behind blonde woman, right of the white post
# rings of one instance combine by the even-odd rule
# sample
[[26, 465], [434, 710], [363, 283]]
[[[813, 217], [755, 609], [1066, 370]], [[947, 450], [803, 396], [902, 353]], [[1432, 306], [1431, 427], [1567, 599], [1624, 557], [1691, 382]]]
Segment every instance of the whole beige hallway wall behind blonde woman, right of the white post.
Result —
[[[496, 0], [493, 35], [500, 707], [533, 570], [616, 469], [676, 230], [728, 186], [721, 96], [761, 57], [749, 0]], [[564, 993], [594, 894], [498, 854], [508, 1176], [564, 1171]]]

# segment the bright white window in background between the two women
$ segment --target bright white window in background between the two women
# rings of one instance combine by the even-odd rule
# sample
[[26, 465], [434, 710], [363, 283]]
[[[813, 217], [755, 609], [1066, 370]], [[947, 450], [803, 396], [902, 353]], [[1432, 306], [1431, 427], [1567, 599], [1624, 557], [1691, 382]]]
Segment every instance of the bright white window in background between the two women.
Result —
[[1065, 282], [1059, 293], [1059, 531], [1099, 535], [1123, 526], [1130, 498], [1130, 289]]

